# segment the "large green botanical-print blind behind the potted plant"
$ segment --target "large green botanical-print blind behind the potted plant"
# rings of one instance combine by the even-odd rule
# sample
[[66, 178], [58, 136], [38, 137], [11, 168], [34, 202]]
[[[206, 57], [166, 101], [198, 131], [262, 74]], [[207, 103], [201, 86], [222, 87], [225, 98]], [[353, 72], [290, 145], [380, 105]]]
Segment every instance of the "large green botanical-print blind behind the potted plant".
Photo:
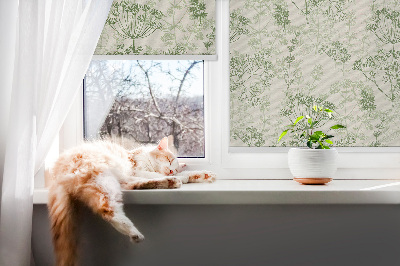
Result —
[[399, 0], [232, 0], [230, 145], [299, 146], [319, 105], [336, 146], [400, 146], [399, 71]]

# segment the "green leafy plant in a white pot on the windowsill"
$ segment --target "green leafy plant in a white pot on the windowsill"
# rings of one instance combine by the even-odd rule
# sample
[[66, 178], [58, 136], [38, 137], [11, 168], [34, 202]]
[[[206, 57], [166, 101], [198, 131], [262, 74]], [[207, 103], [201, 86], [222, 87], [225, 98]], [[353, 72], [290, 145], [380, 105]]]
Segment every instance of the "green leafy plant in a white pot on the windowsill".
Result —
[[[333, 111], [322, 106], [313, 106], [310, 115], [299, 116], [279, 136], [278, 142], [288, 133], [293, 134], [306, 147], [291, 148], [288, 163], [293, 179], [302, 184], [320, 185], [332, 181], [337, 170], [337, 150], [333, 145], [333, 135], [326, 134], [318, 128], [332, 119]], [[334, 125], [330, 129], [345, 128]]]

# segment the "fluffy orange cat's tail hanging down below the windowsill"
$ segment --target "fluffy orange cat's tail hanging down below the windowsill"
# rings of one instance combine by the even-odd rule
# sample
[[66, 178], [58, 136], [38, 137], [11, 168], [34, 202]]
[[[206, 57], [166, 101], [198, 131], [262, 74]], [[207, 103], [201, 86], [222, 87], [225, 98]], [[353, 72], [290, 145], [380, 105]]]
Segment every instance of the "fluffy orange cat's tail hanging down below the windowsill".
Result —
[[57, 182], [49, 189], [48, 208], [56, 265], [77, 265], [76, 207], [71, 196]]

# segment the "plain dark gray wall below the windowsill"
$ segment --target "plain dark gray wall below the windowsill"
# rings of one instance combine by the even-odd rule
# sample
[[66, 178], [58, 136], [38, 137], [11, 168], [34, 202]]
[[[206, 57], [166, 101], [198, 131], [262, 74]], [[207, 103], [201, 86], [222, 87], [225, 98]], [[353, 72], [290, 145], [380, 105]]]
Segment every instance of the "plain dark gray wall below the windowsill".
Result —
[[[83, 210], [80, 258], [101, 265], [400, 265], [400, 206], [128, 205], [131, 244]], [[52, 265], [47, 210], [35, 205], [33, 252]]]

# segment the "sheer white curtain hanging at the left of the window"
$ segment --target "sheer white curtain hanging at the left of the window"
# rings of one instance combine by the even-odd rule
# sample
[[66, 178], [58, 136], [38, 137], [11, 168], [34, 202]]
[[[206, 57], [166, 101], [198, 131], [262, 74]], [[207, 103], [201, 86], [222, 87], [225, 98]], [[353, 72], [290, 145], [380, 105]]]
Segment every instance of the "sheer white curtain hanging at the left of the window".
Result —
[[[0, 265], [30, 263], [33, 177], [81, 86], [111, 3], [19, 0], [1, 195]], [[1, 57], [7, 53], [0, 51]]]

